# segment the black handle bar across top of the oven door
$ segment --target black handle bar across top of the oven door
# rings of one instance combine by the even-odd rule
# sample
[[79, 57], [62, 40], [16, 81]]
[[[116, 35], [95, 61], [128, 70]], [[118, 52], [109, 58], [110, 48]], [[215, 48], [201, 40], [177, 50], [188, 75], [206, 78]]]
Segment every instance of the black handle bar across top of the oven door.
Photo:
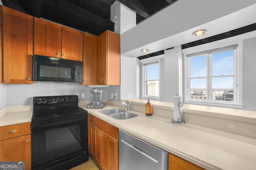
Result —
[[60, 124], [65, 124], [65, 123], [71, 123], [74, 121], [80, 121], [86, 119], [85, 117], [82, 118], [76, 118], [72, 119], [70, 117], [65, 118], [65, 119], [54, 119], [54, 120], [49, 120], [49, 121], [38, 121], [34, 122], [31, 124], [32, 128], [42, 128], [42, 127], [49, 127], [49, 126], [54, 126], [54, 125], [60, 125]]

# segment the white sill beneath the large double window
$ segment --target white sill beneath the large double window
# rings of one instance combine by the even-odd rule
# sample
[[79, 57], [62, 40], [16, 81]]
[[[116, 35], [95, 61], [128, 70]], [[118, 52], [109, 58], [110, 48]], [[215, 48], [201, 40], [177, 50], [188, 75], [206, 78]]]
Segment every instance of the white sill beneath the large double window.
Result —
[[201, 101], [191, 101], [184, 100], [184, 104], [202, 105], [202, 106], [213, 106], [213, 107], [225, 107], [232, 109], [242, 109], [244, 105], [241, 104], [227, 104], [227, 103], [217, 103], [217, 102], [201, 102]]

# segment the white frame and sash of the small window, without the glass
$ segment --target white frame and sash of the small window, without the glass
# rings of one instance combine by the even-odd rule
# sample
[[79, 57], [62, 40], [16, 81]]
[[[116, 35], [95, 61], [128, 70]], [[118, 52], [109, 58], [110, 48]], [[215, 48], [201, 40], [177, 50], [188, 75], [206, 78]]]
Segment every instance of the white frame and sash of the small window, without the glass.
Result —
[[[161, 98], [160, 98], [160, 84], [161, 84], [161, 80], [160, 80], [160, 75], [161, 75], [161, 73], [160, 73], [160, 70], [161, 70], [161, 68], [160, 68], [160, 59], [162, 59], [162, 58], [164, 58], [163, 57], [163, 55], [159, 55], [159, 56], [156, 56], [156, 57], [150, 57], [150, 58], [147, 58], [147, 59], [142, 59], [142, 60], [140, 60], [140, 65], [141, 65], [141, 85], [140, 85], [140, 87], [141, 87], [141, 98], [142, 99], [148, 99], [148, 98], [150, 98], [150, 99], [152, 99], [152, 100], [161, 100]], [[147, 96], [146, 95], [146, 90], [147, 90], [147, 88], [146, 88], [146, 82], [147, 81], [150, 81], [150, 80], [146, 80], [146, 66], [148, 66], [148, 65], [153, 65], [153, 64], [158, 64], [158, 96]]]

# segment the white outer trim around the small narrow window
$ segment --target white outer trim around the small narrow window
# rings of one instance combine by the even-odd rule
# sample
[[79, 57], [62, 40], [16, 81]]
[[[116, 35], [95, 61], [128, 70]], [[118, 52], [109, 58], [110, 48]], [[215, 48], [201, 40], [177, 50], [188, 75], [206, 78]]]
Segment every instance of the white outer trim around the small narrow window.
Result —
[[[161, 80], [160, 80], [160, 59], [163, 59], [164, 58], [164, 55], [158, 55], [156, 57], [150, 57], [150, 58], [147, 58], [147, 59], [142, 59], [140, 60], [140, 67], [141, 67], [141, 71], [140, 71], [140, 76], [141, 76], [141, 82], [140, 82], [140, 89], [141, 89], [141, 98], [142, 99], [152, 99], [152, 100], [161, 100], [160, 96], [161, 96], [161, 91], [160, 91], [160, 86], [161, 86]], [[147, 64], [147, 63], [154, 63], [154, 62], [158, 62], [158, 73], [159, 73], [159, 96], [157, 97], [154, 97], [154, 96], [146, 96], [146, 87], [145, 87], [145, 83], [144, 83], [144, 80], [145, 80], [145, 70], [144, 70], [144, 64]]]

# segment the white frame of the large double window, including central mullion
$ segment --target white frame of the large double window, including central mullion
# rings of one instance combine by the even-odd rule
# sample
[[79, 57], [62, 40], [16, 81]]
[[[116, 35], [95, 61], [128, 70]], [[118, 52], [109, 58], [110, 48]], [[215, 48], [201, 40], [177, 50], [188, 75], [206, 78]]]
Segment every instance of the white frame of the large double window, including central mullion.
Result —
[[[234, 102], [232, 101], [219, 101], [212, 100], [212, 84], [211, 79], [212, 74], [210, 73], [212, 70], [209, 68], [210, 64], [212, 64], [212, 54], [219, 53], [223, 51], [229, 51], [234, 49]], [[202, 50], [203, 49], [203, 50]], [[186, 104], [200, 104], [205, 106], [218, 106], [218, 107], [231, 107], [231, 108], [242, 108], [242, 41], [229, 41], [225, 39], [224, 41], [216, 41], [212, 43], [207, 43], [204, 45], [198, 45], [196, 47], [190, 47], [188, 49], [183, 49], [183, 59], [184, 59], [184, 103]], [[207, 100], [196, 100], [190, 99], [190, 59], [192, 56], [201, 56], [204, 54], [208, 54], [207, 58], [207, 77], [206, 78], [206, 94]], [[209, 77], [210, 75], [210, 77]], [[210, 89], [209, 89], [210, 88]]]

